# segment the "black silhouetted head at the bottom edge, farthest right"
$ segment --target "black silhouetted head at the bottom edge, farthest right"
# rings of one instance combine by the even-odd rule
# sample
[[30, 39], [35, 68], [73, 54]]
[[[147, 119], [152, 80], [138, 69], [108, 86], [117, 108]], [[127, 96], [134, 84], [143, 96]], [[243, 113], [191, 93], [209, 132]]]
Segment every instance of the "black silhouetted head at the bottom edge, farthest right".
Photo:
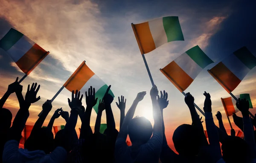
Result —
[[247, 163], [250, 157], [248, 144], [237, 136], [224, 138], [221, 149], [226, 163]]

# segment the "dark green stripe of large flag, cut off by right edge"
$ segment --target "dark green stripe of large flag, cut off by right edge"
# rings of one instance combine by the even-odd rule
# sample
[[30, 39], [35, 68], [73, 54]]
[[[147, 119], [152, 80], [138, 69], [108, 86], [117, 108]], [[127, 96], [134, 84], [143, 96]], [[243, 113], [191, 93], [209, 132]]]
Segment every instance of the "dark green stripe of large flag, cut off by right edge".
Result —
[[245, 46], [235, 51], [234, 54], [250, 70], [256, 66], [256, 57]]

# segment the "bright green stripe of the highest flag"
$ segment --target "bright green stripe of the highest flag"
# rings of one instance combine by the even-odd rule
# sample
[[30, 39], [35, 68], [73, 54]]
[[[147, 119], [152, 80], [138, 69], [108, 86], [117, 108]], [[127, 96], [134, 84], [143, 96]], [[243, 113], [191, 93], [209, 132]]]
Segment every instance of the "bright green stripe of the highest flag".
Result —
[[168, 42], [184, 41], [178, 17], [163, 17], [163, 28]]

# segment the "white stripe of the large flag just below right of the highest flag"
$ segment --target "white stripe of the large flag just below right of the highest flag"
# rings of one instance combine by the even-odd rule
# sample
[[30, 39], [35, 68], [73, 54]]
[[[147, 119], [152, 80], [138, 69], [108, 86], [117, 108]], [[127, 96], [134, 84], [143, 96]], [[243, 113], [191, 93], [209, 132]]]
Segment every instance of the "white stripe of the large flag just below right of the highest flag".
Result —
[[174, 60], [177, 65], [182, 68], [192, 79], [195, 79], [196, 76], [203, 70], [187, 53], [181, 54], [177, 59]]

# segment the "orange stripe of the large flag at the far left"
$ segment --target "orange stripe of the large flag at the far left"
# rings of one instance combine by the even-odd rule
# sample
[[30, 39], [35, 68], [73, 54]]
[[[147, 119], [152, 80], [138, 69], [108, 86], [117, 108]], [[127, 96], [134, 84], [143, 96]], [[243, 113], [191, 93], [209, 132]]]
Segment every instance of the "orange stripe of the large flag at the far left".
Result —
[[29, 75], [31, 71], [49, 54], [39, 45], [35, 44], [17, 62], [23, 73]]

